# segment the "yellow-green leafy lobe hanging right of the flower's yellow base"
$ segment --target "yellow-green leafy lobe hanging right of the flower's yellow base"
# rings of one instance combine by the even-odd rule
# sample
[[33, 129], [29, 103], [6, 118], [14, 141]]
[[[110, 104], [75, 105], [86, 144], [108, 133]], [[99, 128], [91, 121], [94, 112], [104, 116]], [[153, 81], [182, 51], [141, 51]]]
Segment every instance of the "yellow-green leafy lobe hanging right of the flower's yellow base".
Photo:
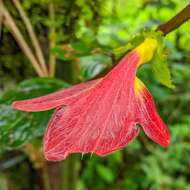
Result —
[[168, 88], [175, 88], [172, 84], [170, 70], [168, 68], [165, 50], [163, 46], [159, 46], [157, 52], [151, 62], [152, 70], [155, 78]]

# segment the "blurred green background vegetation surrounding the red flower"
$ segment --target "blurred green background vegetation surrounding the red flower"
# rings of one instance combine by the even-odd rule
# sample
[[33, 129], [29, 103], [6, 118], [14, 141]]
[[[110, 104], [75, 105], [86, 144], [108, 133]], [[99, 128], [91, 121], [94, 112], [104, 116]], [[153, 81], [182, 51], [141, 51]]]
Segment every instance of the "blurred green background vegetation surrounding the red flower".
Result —
[[[18, 1], [19, 2], [19, 1]], [[190, 23], [166, 37], [175, 90], [163, 87], [143, 66], [158, 111], [171, 131], [167, 149], [144, 134], [124, 150], [107, 157], [72, 155], [59, 163], [41, 154], [50, 112], [12, 110], [13, 100], [36, 97], [103, 75], [111, 56], [144, 27], [156, 27], [188, 0], [27, 0], [21, 1], [50, 74], [39, 78], [31, 59], [15, 40], [15, 30], [1, 17], [0, 0], [0, 190], [189, 190], [190, 189]], [[32, 55], [35, 46], [14, 0], [8, 10]], [[56, 64], [55, 64], [56, 63]]]

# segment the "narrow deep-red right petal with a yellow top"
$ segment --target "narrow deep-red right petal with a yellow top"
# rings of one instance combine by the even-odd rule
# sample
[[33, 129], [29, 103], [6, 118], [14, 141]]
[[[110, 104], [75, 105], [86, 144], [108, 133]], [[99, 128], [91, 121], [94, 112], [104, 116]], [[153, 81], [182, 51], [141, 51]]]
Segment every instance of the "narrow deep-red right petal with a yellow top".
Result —
[[146, 135], [163, 147], [169, 145], [170, 134], [165, 123], [158, 115], [153, 97], [142, 81], [138, 83], [137, 95], [137, 122], [142, 125]]

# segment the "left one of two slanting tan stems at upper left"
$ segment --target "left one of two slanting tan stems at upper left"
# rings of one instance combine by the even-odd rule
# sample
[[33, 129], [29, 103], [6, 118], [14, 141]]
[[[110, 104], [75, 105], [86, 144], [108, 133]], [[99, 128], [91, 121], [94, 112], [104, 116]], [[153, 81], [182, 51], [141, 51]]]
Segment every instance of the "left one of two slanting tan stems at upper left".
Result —
[[19, 44], [20, 48], [25, 53], [26, 57], [32, 63], [32, 66], [34, 67], [34, 69], [37, 72], [37, 74], [39, 76], [41, 76], [41, 77], [45, 76], [44, 72], [41, 70], [41, 67], [38, 64], [38, 61], [36, 60], [35, 56], [33, 55], [32, 50], [30, 49], [30, 47], [28, 46], [28, 44], [24, 40], [24, 38], [23, 38], [20, 30], [16, 26], [13, 18], [9, 14], [8, 10], [6, 9], [6, 7], [3, 5], [3, 2], [1, 3], [1, 6], [0, 6], [0, 12], [4, 16], [4, 20], [3, 21], [4, 21], [5, 26], [7, 26], [7, 28], [10, 29], [12, 35], [15, 37], [15, 40]]

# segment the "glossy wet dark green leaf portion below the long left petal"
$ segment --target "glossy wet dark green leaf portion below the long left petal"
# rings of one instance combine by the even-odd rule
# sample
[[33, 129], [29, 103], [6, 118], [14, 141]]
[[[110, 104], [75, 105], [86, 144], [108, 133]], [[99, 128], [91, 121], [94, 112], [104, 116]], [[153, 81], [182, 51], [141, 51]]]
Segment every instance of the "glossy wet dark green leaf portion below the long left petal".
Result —
[[0, 153], [41, 137], [52, 111], [26, 113], [0, 105]]

